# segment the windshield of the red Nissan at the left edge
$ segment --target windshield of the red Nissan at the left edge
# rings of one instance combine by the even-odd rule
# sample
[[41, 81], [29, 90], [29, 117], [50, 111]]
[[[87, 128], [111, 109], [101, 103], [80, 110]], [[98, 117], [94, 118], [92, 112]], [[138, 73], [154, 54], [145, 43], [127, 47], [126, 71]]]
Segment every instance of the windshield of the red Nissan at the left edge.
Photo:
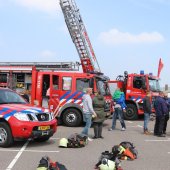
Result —
[[0, 104], [26, 104], [27, 102], [17, 93], [10, 90], [0, 90]]

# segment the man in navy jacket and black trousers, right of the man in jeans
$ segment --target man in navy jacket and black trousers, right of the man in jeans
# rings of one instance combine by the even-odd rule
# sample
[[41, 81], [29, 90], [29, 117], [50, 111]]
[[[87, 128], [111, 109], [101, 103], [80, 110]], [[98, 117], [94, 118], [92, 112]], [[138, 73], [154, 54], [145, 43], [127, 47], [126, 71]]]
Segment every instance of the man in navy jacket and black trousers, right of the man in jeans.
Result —
[[154, 135], [158, 137], [165, 137], [163, 134], [163, 127], [165, 121], [165, 115], [168, 112], [167, 104], [164, 100], [164, 93], [160, 92], [159, 96], [156, 98], [154, 103], [155, 113], [156, 113], [156, 121], [154, 127]]

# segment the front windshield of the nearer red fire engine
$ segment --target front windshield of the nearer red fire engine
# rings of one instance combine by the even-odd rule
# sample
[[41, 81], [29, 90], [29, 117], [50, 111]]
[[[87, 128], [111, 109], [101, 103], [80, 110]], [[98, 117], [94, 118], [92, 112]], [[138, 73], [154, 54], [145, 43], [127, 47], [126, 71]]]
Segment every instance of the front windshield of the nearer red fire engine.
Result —
[[108, 83], [104, 80], [97, 80], [97, 89], [103, 96], [110, 95]]

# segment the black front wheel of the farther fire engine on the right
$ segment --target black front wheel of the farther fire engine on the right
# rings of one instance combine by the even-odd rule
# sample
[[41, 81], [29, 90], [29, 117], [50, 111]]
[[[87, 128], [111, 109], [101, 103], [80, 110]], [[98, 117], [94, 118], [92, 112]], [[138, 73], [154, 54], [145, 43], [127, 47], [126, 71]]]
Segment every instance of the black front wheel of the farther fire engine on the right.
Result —
[[126, 120], [138, 119], [137, 107], [134, 104], [127, 104], [127, 109], [126, 112], [124, 113], [124, 118]]

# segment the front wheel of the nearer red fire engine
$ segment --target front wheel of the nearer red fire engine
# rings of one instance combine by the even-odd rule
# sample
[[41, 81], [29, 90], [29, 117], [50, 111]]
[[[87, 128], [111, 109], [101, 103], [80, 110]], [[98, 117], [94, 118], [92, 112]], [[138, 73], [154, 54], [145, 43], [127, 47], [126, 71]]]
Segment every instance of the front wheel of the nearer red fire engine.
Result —
[[63, 113], [63, 123], [69, 127], [79, 126], [82, 123], [82, 115], [77, 109], [67, 109]]

